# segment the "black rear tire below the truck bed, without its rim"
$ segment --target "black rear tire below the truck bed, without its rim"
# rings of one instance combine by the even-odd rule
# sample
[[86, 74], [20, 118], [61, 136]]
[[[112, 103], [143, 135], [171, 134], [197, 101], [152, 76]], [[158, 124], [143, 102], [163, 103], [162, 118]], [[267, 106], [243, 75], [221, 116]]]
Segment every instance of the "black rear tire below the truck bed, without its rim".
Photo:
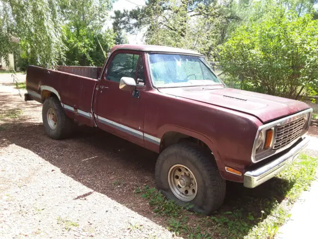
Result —
[[[57, 117], [57, 126], [52, 129], [48, 124], [47, 112], [53, 109]], [[62, 108], [61, 102], [56, 97], [46, 99], [42, 107], [42, 119], [46, 134], [53, 139], [63, 139], [69, 137], [74, 129], [74, 121], [70, 119]]]

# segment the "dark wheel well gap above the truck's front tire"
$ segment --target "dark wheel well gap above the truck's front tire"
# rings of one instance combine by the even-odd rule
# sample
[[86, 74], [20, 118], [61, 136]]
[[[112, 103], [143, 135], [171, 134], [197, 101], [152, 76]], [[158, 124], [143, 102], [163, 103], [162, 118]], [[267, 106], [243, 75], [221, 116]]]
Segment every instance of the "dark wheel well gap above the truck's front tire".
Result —
[[189, 135], [176, 131], [169, 131], [163, 135], [160, 145], [160, 152], [162, 152], [166, 147], [180, 142], [192, 142], [211, 152], [210, 148], [208, 147], [208, 145], [206, 145], [205, 142], [201, 141], [198, 138], [191, 137]]

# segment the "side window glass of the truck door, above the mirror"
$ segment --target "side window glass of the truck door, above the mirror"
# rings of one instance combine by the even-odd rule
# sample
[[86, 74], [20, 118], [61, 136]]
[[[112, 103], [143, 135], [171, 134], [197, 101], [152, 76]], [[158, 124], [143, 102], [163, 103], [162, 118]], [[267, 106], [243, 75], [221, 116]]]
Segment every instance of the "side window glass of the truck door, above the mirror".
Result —
[[116, 54], [108, 67], [106, 78], [115, 82], [120, 82], [122, 77], [135, 79], [138, 57], [134, 54]]

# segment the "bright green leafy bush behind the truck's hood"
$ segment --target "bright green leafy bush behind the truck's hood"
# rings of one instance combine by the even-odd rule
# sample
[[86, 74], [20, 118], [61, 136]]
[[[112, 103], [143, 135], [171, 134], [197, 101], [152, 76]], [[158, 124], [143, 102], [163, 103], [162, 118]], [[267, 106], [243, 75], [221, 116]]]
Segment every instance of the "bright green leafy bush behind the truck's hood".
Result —
[[239, 27], [220, 63], [241, 88], [297, 99], [318, 91], [318, 20], [274, 5], [259, 22]]

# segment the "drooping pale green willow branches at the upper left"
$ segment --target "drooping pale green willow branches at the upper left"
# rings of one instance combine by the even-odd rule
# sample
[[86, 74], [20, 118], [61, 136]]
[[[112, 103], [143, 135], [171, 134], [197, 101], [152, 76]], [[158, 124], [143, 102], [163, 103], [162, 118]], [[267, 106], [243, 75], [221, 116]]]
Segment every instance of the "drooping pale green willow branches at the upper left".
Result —
[[0, 56], [13, 52], [20, 40], [29, 63], [55, 65], [65, 50], [59, 6], [60, 0], [0, 0]]

